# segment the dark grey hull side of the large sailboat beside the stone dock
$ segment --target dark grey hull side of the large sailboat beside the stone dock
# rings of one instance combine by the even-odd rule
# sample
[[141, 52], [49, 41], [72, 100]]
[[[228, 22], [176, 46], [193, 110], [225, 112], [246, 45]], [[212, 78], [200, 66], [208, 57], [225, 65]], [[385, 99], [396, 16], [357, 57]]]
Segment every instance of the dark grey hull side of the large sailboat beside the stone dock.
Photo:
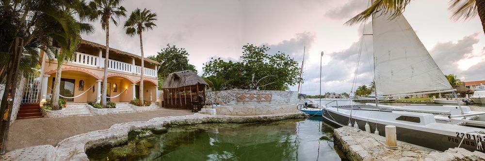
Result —
[[[332, 111], [325, 110], [325, 109], [323, 109], [323, 119], [328, 120], [338, 126], [348, 126], [348, 121], [349, 121], [349, 117], [339, 115], [338, 113], [334, 113]], [[355, 121], [357, 122], [359, 129], [362, 131], [365, 131], [366, 123], [368, 123], [371, 126], [372, 133], [375, 131], [375, 127], [377, 126], [379, 135], [385, 137], [386, 124], [375, 123], [375, 122], [372, 122], [371, 119], [369, 119], [369, 121], [365, 121], [365, 120], [352, 118], [353, 125]], [[402, 128], [399, 126], [396, 126], [396, 134], [397, 134], [397, 139], [399, 141], [403, 141], [409, 144], [414, 144], [417, 146], [427, 147], [430, 149], [435, 149], [438, 151], [445, 151], [445, 150], [448, 150], [449, 148], [458, 147], [458, 145], [462, 140], [461, 137], [457, 137], [457, 136]], [[470, 151], [475, 151], [477, 150], [476, 144], [477, 144], [477, 141], [465, 138], [460, 147]], [[484, 152], [483, 150], [479, 150], [479, 151]]]

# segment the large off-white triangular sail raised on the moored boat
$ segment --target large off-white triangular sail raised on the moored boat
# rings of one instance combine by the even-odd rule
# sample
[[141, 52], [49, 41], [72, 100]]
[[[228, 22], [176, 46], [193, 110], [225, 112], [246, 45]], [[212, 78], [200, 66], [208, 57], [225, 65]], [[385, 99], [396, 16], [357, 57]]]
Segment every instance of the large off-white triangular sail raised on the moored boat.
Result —
[[377, 95], [452, 89], [404, 15], [372, 17]]

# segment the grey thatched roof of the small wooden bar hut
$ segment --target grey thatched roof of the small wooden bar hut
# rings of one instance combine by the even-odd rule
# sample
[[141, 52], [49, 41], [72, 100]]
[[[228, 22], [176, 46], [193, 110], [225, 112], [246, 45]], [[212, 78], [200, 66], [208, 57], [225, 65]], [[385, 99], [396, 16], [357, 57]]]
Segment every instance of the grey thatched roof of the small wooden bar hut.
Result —
[[209, 86], [200, 76], [192, 70], [185, 70], [168, 74], [162, 88], [179, 88], [194, 86], [197, 83]]

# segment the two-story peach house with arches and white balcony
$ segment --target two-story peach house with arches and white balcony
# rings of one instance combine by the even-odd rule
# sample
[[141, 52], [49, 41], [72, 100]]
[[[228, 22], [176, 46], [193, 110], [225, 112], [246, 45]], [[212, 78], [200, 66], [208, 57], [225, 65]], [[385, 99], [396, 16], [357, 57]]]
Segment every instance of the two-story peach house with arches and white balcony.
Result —
[[[99, 102], [103, 88], [104, 69], [108, 68], [107, 96], [112, 102], [130, 102], [139, 96], [141, 57], [110, 48], [108, 66], [104, 66], [106, 46], [83, 40], [73, 60], [62, 67], [60, 94], [68, 103]], [[60, 50], [52, 51], [60, 52]], [[51, 97], [57, 73], [57, 61], [49, 60], [41, 51], [41, 95], [40, 103]], [[157, 101], [159, 62], [144, 59], [143, 96], [147, 101]]]

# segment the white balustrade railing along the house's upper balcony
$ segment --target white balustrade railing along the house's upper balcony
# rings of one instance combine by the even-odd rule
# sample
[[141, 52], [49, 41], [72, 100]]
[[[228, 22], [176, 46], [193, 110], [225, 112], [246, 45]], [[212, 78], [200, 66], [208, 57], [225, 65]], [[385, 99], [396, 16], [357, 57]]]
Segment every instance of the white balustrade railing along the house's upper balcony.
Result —
[[[104, 60], [104, 58], [99, 59], [99, 57], [97, 56], [76, 52], [76, 57], [69, 62], [74, 64], [104, 68]], [[142, 67], [140, 66], [129, 64], [126, 62], [111, 59], [108, 61], [108, 69], [113, 71], [140, 74], [141, 68]], [[154, 69], [145, 68], [144, 72], [144, 75], [146, 76], [157, 77], [157, 71], [155, 71]]]

